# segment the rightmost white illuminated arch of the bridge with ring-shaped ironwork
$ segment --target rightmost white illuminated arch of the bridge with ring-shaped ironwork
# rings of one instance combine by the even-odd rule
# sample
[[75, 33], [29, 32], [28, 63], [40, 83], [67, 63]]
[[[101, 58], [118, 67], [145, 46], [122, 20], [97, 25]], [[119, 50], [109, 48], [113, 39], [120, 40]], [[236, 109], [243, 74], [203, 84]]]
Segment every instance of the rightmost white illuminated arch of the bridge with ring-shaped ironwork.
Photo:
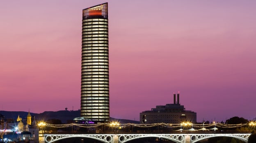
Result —
[[247, 143], [250, 135], [251, 134], [190, 134], [190, 141], [191, 143], [196, 143], [213, 137], [232, 137]]

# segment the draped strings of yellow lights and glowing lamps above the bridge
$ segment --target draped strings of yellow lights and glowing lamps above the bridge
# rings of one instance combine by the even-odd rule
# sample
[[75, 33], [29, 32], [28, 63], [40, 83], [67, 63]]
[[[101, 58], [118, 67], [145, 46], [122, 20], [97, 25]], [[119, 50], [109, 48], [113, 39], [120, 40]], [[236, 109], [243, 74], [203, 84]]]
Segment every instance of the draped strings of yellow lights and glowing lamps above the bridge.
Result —
[[192, 123], [180, 123], [180, 124], [170, 124], [170, 123], [153, 123], [153, 124], [134, 124], [134, 123], [125, 123], [125, 124], [111, 124], [111, 123], [98, 123], [98, 124], [77, 124], [77, 123], [70, 123], [70, 124], [49, 124], [46, 123], [45, 126], [47, 127], [56, 127], [56, 128], [64, 128], [64, 127], [71, 127], [71, 126], [78, 126], [78, 127], [99, 127], [99, 126], [105, 126], [105, 127], [181, 127], [181, 126], [192, 126], [192, 127], [221, 127], [221, 128], [235, 128], [235, 127], [243, 127], [243, 126], [254, 126], [256, 123], [249, 123], [249, 124], [224, 124], [224, 123], [210, 123], [210, 124], [192, 124]]

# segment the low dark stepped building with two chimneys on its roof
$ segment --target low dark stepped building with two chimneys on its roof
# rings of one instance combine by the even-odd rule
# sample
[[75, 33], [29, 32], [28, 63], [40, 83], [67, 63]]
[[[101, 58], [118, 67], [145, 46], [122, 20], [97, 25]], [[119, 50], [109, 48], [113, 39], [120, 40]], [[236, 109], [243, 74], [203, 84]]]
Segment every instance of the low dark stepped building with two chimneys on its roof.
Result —
[[179, 94], [174, 94], [174, 103], [166, 105], [158, 105], [149, 111], [139, 113], [140, 123], [181, 123], [189, 121], [192, 123], [197, 122], [197, 113], [185, 110], [184, 105], [179, 103]]

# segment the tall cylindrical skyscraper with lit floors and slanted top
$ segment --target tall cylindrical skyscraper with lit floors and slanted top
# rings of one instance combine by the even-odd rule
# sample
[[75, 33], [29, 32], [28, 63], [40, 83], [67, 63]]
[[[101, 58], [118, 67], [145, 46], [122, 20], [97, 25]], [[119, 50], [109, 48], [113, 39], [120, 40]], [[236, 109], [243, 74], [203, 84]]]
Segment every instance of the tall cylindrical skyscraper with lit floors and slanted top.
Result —
[[107, 3], [82, 11], [81, 116], [109, 121]]

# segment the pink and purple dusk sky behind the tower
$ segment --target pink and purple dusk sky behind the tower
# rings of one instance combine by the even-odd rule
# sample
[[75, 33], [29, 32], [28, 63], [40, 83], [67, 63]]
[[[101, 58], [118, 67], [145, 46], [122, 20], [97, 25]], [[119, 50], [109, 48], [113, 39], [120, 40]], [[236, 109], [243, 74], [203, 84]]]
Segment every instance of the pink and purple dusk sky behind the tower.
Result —
[[255, 0], [0, 1], [0, 110], [80, 109], [82, 9], [109, 4], [110, 116], [256, 118]]

